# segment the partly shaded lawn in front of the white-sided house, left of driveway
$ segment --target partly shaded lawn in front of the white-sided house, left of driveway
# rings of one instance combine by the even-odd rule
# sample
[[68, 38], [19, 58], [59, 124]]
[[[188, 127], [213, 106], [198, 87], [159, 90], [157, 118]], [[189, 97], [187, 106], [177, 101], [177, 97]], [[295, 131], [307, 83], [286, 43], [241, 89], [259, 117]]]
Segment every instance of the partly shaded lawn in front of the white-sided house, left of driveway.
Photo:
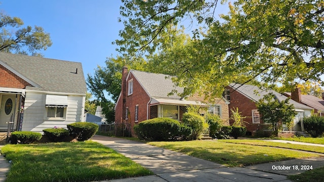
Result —
[[7, 182], [96, 181], [153, 174], [92, 141], [6, 145], [1, 153], [12, 160]]

